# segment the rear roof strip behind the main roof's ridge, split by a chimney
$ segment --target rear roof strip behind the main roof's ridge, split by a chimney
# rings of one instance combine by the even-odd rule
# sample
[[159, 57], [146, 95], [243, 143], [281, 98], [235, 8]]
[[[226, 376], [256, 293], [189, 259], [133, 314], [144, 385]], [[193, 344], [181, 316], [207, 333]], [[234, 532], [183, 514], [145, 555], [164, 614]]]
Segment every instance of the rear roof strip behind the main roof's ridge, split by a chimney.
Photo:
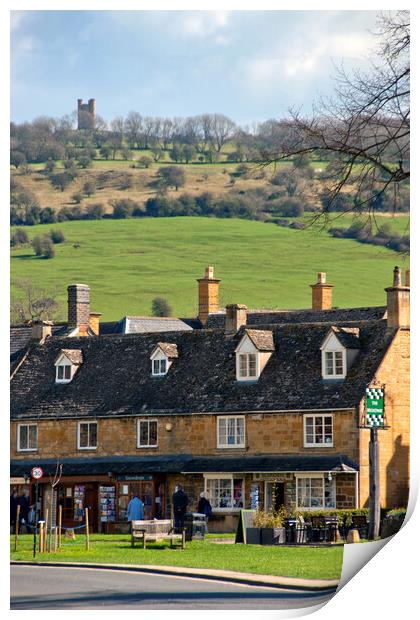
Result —
[[[247, 325], [259, 326], [278, 323], [343, 323], [373, 321], [385, 317], [386, 307], [333, 308], [331, 310], [248, 310]], [[206, 328], [224, 328], [225, 310], [214, 312], [207, 319]]]

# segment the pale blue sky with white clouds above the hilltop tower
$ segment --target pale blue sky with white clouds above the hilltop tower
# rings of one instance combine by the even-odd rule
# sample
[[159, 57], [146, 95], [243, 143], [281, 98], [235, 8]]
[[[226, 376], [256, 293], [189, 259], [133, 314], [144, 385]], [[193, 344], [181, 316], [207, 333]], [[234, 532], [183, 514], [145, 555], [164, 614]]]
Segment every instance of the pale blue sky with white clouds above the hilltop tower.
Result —
[[374, 11], [13, 11], [11, 116], [95, 97], [106, 120], [221, 112], [241, 124], [311, 108], [333, 63], [366, 67]]

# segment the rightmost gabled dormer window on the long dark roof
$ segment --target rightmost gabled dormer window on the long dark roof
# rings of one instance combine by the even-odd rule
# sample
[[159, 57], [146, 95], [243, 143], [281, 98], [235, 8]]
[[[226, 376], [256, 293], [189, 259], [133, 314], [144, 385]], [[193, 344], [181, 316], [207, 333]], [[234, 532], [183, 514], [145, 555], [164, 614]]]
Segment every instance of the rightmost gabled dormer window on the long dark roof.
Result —
[[360, 349], [359, 329], [331, 327], [320, 348], [322, 378], [344, 379]]

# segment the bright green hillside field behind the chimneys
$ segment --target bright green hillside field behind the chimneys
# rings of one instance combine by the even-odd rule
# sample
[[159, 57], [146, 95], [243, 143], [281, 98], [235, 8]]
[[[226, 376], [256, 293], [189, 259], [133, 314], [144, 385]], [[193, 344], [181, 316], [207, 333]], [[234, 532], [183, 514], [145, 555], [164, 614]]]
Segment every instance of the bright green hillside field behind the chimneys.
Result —
[[[406, 227], [408, 218], [392, 221]], [[157, 296], [169, 301], [175, 316], [195, 316], [196, 278], [206, 265], [222, 278], [221, 305], [249, 308], [310, 307], [309, 284], [318, 271], [335, 285], [335, 306], [383, 305], [394, 265], [409, 267], [391, 250], [334, 239], [315, 227], [296, 231], [249, 220], [177, 217], [63, 222], [26, 231], [33, 237], [51, 228], [66, 237], [55, 246], [55, 258], [36, 258], [29, 245], [14, 249], [11, 276], [58, 293], [62, 318], [72, 282], [89, 284], [92, 310], [112, 320], [150, 314]]]

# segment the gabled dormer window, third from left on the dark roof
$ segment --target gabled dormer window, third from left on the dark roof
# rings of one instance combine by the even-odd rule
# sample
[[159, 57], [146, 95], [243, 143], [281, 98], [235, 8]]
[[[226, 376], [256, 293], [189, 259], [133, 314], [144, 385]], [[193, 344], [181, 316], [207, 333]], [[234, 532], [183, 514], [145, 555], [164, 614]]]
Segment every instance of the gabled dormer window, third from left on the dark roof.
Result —
[[257, 381], [274, 351], [273, 333], [246, 329], [236, 353], [236, 379]]

